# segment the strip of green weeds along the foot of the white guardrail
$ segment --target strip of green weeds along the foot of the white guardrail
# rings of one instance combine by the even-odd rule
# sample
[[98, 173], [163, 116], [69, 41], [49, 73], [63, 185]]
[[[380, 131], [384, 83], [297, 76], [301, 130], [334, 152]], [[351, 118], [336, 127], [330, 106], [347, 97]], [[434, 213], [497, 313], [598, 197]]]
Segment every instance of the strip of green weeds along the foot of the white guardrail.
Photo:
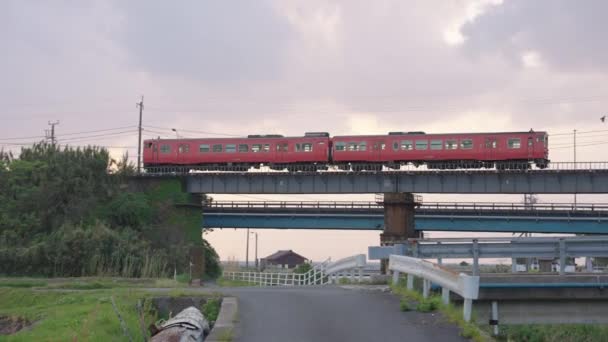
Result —
[[[416, 283], [414, 283], [416, 285]], [[475, 342], [492, 341], [492, 338], [482, 331], [477, 325], [472, 322], [466, 322], [462, 317], [462, 308], [455, 307], [452, 304], [444, 305], [441, 297], [432, 295], [424, 298], [421, 293], [408, 290], [405, 284], [405, 279], [400, 279], [397, 284], [391, 284], [391, 290], [399, 296], [399, 306], [401, 311], [409, 311], [412, 304], [415, 304], [416, 311], [419, 312], [441, 312], [449, 322], [458, 325], [460, 335]], [[404, 305], [408, 310], [404, 310]], [[519, 340], [515, 340], [519, 341]]]

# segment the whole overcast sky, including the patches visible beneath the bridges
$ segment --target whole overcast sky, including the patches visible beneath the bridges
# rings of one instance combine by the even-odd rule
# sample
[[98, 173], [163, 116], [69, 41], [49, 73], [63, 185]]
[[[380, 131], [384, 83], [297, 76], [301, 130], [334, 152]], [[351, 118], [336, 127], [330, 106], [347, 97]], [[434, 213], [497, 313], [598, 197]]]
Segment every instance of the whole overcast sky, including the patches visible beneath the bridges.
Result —
[[[144, 95], [146, 137], [534, 128], [570, 161], [576, 128], [599, 131], [579, 135], [579, 160], [608, 160], [606, 13], [602, 0], [4, 0], [0, 148], [59, 120], [60, 143], [134, 157]], [[223, 258], [242, 257], [237, 233], [213, 233]], [[265, 254], [355, 249], [265, 233]]]

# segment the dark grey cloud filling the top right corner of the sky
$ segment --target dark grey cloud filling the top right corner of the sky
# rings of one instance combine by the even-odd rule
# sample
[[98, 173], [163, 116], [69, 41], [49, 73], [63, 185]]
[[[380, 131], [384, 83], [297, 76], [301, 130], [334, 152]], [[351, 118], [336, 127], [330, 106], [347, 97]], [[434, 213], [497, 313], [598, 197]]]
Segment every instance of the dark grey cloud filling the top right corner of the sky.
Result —
[[536, 50], [557, 70], [606, 70], [606, 13], [603, 0], [507, 0], [464, 26], [463, 49], [500, 53], [515, 63]]

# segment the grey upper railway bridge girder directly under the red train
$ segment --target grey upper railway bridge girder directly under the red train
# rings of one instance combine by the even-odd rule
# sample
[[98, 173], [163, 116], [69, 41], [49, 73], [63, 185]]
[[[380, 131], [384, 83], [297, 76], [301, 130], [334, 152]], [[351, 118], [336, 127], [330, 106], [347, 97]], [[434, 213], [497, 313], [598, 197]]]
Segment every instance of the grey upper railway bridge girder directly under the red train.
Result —
[[190, 193], [210, 194], [605, 194], [608, 162], [551, 163], [546, 169], [429, 170], [407, 165], [398, 171], [217, 172], [196, 167], [160, 167], [139, 177], [181, 177]]

